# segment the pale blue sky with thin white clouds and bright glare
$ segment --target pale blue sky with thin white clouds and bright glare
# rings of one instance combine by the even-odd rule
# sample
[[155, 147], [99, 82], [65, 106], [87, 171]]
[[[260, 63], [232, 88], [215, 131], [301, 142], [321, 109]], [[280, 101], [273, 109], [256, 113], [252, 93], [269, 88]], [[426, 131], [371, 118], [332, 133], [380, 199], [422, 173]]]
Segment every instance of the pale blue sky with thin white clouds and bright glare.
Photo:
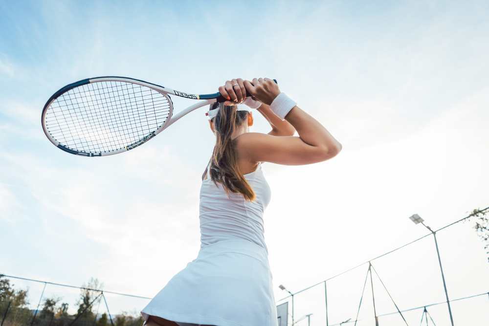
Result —
[[[94, 277], [152, 297], [197, 256], [200, 176], [215, 141], [206, 109], [133, 151], [69, 155], [45, 137], [41, 111], [89, 77], [196, 94], [274, 78], [342, 143], [330, 161], [263, 166], [277, 300], [280, 284], [295, 293], [428, 234], [413, 214], [436, 230], [488, 207], [488, 16], [483, 0], [0, 0], [0, 273], [71, 285]], [[173, 100], [176, 112], [193, 104]], [[268, 132], [258, 115], [252, 131]], [[489, 291], [472, 226], [437, 235], [450, 299]], [[445, 301], [433, 237], [372, 264], [401, 310]], [[367, 269], [328, 282], [330, 325], [355, 319]], [[43, 284], [13, 283], [37, 304]], [[375, 273], [373, 283], [379, 313], [395, 311]], [[73, 291], [45, 294], [71, 304]], [[484, 298], [453, 303], [456, 325], [484, 325]], [[148, 302], [107, 299], [114, 313]], [[296, 319], [325, 324], [324, 287], [294, 300]], [[372, 325], [371, 305], [363, 301], [362, 325]], [[446, 305], [430, 313], [449, 323]]]

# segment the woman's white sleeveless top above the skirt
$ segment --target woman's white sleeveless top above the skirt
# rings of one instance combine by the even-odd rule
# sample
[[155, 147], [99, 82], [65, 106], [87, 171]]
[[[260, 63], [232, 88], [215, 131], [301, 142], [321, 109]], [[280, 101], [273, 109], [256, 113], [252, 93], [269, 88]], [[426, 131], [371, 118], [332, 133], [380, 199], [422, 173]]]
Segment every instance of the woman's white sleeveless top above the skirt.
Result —
[[265, 244], [263, 213], [270, 202], [271, 192], [262, 172], [244, 174], [256, 195], [256, 201], [245, 201], [243, 195], [226, 195], [222, 184], [212, 182], [207, 168], [207, 179], [200, 187], [200, 248], [229, 239], [244, 239], [263, 247]]

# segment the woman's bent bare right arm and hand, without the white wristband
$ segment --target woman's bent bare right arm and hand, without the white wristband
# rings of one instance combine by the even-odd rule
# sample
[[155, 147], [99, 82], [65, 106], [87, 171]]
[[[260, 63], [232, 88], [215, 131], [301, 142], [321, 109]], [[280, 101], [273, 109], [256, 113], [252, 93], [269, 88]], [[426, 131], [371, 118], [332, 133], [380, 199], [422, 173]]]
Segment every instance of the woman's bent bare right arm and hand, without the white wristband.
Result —
[[[280, 94], [278, 85], [270, 79], [255, 78], [253, 84], [244, 81], [244, 86], [256, 100], [266, 105]], [[236, 138], [240, 156], [251, 162], [303, 165], [328, 160], [341, 151], [341, 144], [331, 133], [299, 107], [292, 108], [285, 120], [295, 128], [299, 137], [244, 133]]]

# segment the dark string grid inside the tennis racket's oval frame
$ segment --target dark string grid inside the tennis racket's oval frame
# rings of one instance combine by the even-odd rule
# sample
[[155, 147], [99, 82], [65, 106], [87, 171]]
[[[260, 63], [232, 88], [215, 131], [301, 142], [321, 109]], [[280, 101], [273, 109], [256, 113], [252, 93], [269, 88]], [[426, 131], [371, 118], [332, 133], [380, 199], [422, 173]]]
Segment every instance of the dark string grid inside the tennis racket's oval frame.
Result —
[[98, 82], [70, 89], [49, 107], [45, 124], [62, 145], [78, 152], [112, 152], [131, 145], [166, 121], [168, 99], [126, 82]]

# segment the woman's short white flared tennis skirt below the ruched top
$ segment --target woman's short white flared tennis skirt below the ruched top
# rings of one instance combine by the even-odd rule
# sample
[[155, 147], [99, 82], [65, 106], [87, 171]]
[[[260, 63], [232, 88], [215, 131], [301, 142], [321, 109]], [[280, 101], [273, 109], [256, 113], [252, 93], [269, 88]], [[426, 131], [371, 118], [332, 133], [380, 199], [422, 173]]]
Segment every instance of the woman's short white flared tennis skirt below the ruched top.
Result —
[[267, 252], [241, 239], [209, 244], [141, 311], [177, 323], [277, 326]]

